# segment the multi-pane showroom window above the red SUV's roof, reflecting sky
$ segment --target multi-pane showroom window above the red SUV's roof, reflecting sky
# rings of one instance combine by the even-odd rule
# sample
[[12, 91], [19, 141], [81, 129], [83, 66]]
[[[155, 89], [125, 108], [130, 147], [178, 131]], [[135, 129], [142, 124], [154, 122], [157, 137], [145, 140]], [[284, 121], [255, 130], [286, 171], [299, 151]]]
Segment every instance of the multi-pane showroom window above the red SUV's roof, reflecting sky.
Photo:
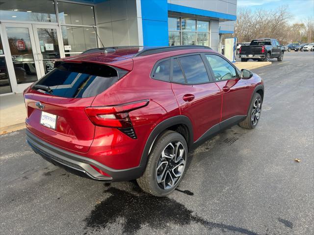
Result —
[[169, 17], [168, 39], [169, 46], [209, 46], [209, 21]]

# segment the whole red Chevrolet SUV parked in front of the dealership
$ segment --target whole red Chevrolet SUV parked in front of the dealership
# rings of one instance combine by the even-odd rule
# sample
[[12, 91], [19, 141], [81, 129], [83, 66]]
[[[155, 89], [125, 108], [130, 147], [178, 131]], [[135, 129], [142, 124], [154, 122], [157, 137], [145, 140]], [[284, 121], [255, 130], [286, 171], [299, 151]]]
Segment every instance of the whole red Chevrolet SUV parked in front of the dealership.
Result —
[[188, 151], [238, 123], [254, 128], [262, 79], [209, 47], [97, 48], [55, 62], [24, 92], [26, 139], [92, 179], [172, 192]]

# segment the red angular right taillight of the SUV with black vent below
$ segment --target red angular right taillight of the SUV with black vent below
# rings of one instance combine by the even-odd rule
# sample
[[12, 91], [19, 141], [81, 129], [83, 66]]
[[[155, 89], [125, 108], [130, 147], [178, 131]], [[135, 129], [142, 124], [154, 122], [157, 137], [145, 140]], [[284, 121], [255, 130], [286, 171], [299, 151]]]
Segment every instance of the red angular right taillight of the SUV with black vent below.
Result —
[[115, 127], [132, 139], [136, 139], [129, 112], [145, 107], [148, 103], [149, 99], [145, 99], [113, 106], [87, 107], [85, 113], [94, 125]]

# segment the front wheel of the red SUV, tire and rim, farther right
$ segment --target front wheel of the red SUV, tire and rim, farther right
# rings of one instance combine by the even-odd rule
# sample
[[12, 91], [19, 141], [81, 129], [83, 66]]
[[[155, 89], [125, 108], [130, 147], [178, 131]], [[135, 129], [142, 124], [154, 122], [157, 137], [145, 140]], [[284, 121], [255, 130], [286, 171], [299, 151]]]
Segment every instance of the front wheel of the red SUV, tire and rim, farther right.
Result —
[[253, 129], [259, 123], [262, 112], [262, 97], [260, 94], [255, 93], [250, 103], [249, 112], [246, 118], [238, 125], [245, 129]]

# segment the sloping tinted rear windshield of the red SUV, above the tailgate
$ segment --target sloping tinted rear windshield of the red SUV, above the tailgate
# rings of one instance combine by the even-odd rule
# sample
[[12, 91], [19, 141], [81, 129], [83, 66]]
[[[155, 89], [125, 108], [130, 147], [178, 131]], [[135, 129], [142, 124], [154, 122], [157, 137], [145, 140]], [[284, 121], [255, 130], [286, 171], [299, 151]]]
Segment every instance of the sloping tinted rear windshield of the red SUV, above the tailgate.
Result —
[[[40, 92], [68, 98], [85, 98], [104, 92], [118, 81], [118, 72], [110, 66], [93, 63], [58, 63], [32, 86]], [[36, 88], [47, 86], [50, 92]]]

